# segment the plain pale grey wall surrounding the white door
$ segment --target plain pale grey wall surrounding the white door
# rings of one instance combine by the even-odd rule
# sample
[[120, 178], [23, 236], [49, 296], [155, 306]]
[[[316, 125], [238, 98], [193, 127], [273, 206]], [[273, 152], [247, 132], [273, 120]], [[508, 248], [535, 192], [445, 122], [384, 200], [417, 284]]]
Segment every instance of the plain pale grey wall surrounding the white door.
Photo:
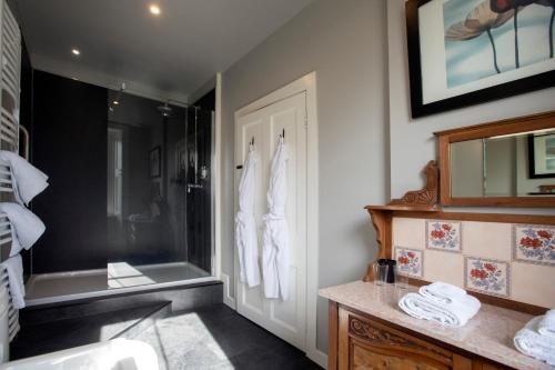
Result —
[[[223, 273], [233, 277], [233, 113], [316, 71], [319, 286], [362, 277], [376, 250], [363, 207], [383, 203], [389, 188], [385, 41], [384, 0], [319, 0], [223, 73]], [[325, 300], [317, 311], [317, 347], [326, 351]]]

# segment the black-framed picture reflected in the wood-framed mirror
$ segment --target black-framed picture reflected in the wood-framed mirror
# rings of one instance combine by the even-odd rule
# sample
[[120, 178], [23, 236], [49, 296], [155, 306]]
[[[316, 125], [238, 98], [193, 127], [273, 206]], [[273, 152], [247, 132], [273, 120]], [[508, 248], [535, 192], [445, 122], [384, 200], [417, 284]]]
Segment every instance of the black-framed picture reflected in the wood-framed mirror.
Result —
[[555, 131], [528, 136], [531, 179], [555, 178]]

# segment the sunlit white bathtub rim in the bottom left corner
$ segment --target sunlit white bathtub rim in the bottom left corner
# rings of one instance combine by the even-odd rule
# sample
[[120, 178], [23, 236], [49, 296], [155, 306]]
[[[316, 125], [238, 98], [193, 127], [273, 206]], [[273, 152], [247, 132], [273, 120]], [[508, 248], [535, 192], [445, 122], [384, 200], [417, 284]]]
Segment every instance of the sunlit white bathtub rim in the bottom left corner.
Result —
[[113, 339], [11, 361], [1, 370], [158, 370], [154, 349], [142, 341]]

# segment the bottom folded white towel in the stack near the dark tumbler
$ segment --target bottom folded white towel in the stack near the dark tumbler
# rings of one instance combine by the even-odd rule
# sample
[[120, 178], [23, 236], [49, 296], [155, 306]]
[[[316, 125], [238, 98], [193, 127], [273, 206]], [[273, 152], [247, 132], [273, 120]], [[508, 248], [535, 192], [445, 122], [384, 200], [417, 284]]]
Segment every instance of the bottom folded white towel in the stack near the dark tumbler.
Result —
[[463, 296], [445, 303], [418, 293], [407, 293], [398, 301], [398, 307], [416, 319], [436, 321], [450, 327], [463, 327], [480, 310], [480, 301], [472, 296]]

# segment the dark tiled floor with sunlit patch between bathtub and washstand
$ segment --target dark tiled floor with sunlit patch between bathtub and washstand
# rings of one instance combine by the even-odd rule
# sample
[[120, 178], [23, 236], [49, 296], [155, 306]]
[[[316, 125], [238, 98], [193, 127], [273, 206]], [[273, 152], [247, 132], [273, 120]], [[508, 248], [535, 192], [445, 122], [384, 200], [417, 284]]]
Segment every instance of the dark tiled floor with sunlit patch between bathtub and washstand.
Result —
[[154, 347], [161, 370], [321, 369], [224, 304], [175, 312], [135, 339]]

